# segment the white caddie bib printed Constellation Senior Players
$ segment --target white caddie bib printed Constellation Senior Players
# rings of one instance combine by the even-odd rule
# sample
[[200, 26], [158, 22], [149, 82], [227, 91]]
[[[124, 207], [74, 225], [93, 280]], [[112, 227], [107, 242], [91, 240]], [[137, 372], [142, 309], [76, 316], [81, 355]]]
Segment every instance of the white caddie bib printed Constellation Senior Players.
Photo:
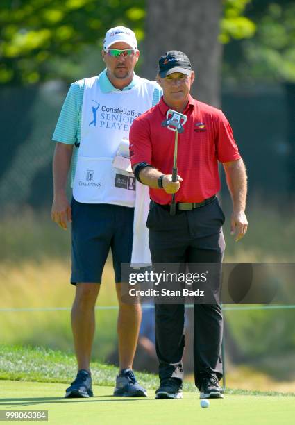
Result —
[[156, 83], [137, 77], [130, 90], [101, 92], [99, 76], [85, 78], [81, 143], [73, 196], [82, 203], [135, 205], [135, 177], [112, 166], [136, 117], [152, 106]]

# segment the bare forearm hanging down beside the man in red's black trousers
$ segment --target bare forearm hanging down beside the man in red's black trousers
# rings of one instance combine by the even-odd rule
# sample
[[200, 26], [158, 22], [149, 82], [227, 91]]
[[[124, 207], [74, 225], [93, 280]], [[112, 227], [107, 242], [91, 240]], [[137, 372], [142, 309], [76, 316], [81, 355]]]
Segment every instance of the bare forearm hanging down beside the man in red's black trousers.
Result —
[[242, 159], [223, 163], [226, 173], [226, 183], [233, 200], [235, 212], [245, 211], [247, 197], [247, 174]]

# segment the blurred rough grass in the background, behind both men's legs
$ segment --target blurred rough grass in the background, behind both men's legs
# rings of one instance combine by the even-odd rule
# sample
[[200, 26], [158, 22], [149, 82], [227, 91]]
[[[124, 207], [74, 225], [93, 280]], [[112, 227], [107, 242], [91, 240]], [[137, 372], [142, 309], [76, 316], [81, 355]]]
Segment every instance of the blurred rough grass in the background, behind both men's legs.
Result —
[[[248, 233], [235, 243], [229, 234], [231, 207], [226, 199], [224, 203], [226, 261], [294, 261], [295, 218], [291, 210], [286, 213], [285, 208], [282, 213], [281, 205], [262, 205], [250, 199]], [[14, 210], [1, 217], [0, 240], [0, 308], [71, 306], [75, 290], [69, 285], [70, 233], [51, 222], [50, 211]], [[117, 305], [111, 258], [103, 274], [98, 305]], [[294, 310], [227, 312], [225, 317], [244, 365], [276, 376], [278, 381], [294, 380], [292, 362], [287, 363], [284, 357], [291, 358], [294, 353]], [[0, 321], [3, 344], [73, 351], [69, 311], [1, 311]], [[116, 322], [116, 310], [96, 311], [94, 360], [104, 363], [115, 349]], [[230, 360], [236, 363], [235, 358]]]

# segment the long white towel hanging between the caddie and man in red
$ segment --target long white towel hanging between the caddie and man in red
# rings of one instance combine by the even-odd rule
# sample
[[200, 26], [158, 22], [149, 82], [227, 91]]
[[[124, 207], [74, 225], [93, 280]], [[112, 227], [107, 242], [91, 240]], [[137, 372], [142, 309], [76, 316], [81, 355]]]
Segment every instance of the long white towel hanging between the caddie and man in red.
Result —
[[146, 219], [149, 214], [149, 186], [136, 181], [135, 208], [133, 222], [133, 247], [131, 267], [140, 268], [151, 265], [151, 252], [149, 251], [149, 229]]

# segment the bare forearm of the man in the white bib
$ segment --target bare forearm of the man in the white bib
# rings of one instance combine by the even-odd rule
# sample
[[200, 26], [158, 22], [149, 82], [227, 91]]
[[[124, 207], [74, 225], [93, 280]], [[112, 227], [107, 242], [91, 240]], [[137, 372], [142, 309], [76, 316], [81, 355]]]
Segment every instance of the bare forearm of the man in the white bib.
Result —
[[71, 165], [73, 145], [56, 143], [53, 156], [53, 192], [54, 197], [64, 196], [67, 188], [67, 174]]

